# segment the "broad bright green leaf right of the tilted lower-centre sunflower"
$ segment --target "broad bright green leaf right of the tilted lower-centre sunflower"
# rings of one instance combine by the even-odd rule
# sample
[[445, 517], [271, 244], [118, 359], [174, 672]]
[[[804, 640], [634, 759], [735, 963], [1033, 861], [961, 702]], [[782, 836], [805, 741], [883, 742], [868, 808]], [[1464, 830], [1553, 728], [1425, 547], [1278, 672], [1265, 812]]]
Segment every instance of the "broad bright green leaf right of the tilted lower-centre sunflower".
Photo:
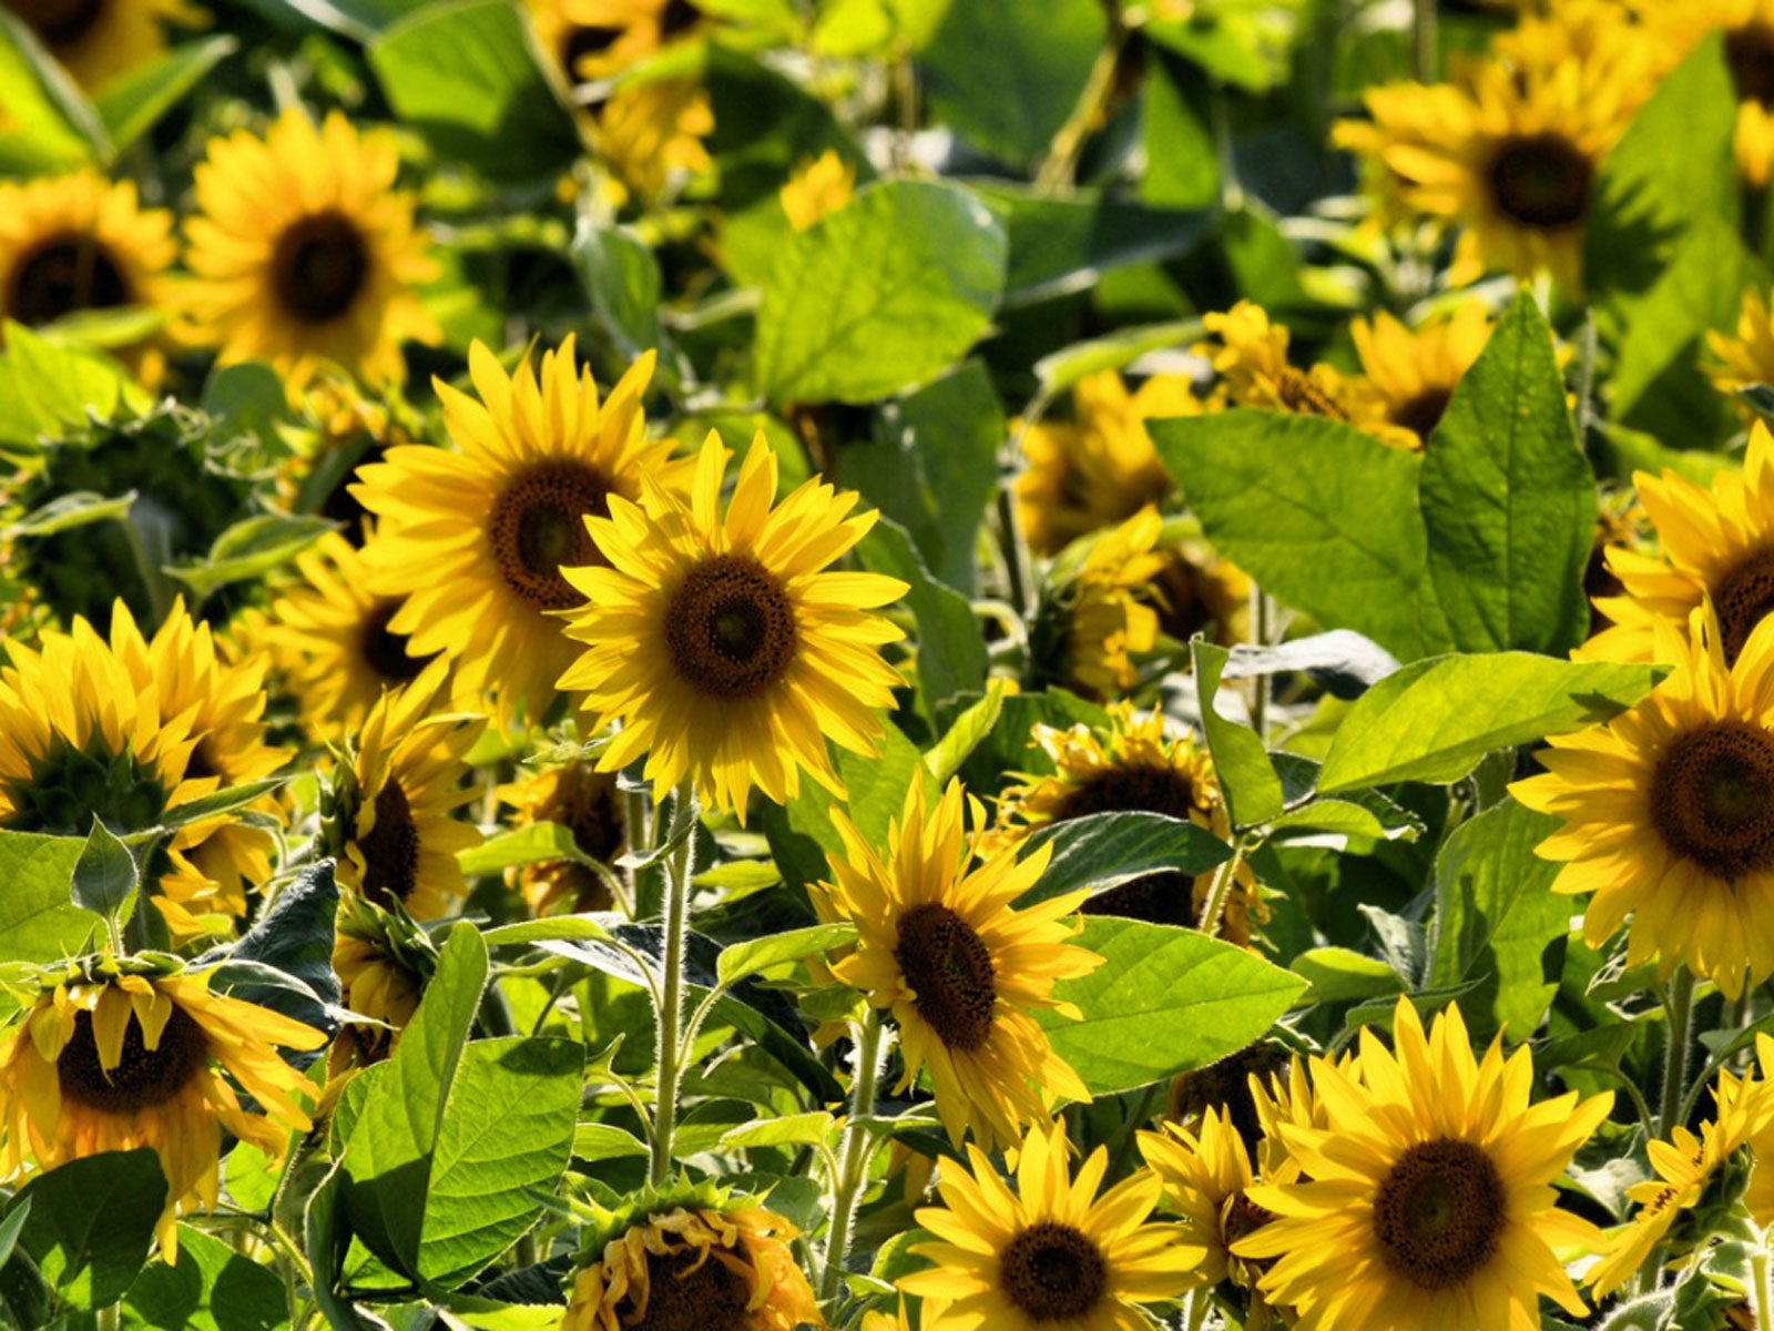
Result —
[[1235, 1054], [1260, 1040], [1306, 988], [1295, 974], [1194, 930], [1096, 916], [1084, 948], [1103, 958], [1054, 997], [1082, 1020], [1036, 1013], [1054, 1052], [1093, 1095], [1119, 1095]]

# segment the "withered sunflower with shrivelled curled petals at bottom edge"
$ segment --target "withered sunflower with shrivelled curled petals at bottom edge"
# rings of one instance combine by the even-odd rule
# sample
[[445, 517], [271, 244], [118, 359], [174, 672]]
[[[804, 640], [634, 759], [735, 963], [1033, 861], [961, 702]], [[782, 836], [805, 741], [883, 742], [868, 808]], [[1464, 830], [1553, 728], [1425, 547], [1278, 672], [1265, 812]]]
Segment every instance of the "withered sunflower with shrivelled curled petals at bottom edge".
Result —
[[672, 1207], [635, 1219], [573, 1278], [561, 1331], [795, 1331], [823, 1327], [788, 1244], [763, 1207]]

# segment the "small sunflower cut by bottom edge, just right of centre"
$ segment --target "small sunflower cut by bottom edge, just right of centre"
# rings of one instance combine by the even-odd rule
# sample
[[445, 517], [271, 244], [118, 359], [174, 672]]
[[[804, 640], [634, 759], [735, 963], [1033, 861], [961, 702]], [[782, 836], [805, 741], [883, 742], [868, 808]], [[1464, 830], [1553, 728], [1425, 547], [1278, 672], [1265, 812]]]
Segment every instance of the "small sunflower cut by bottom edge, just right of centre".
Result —
[[944, 1207], [917, 1212], [938, 1242], [912, 1248], [935, 1262], [899, 1278], [924, 1301], [924, 1331], [1135, 1331], [1139, 1304], [1196, 1283], [1203, 1249], [1174, 1225], [1150, 1225], [1160, 1182], [1141, 1170], [1102, 1196], [1109, 1148], [1066, 1168], [1064, 1123], [1036, 1123], [1020, 1141], [1017, 1191], [969, 1145], [970, 1173], [944, 1170]]

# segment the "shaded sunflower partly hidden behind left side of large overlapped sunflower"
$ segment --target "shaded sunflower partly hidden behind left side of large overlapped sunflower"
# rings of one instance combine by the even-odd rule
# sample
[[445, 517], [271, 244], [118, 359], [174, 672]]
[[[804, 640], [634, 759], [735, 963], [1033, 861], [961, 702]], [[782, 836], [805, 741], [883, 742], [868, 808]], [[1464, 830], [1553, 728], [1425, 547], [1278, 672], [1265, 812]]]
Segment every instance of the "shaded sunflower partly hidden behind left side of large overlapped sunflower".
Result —
[[303, 584], [271, 603], [263, 637], [318, 736], [335, 738], [364, 724], [387, 689], [419, 678], [436, 653], [415, 657], [406, 634], [389, 621], [399, 596], [365, 589], [364, 557], [339, 532], [326, 532], [296, 555]]

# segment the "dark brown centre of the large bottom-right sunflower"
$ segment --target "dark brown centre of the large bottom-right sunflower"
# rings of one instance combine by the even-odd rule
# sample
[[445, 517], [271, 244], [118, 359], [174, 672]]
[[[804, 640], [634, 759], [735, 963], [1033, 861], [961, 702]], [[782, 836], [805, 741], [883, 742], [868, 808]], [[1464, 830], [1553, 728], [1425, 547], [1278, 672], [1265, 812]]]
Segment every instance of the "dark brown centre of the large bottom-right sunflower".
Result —
[[1373, 1237], [1387, 1269], [1425, 1290], [1448, 1290], [1497, 1255], [1508, 1198], [1497, 1166], [1471, 1141], [1405, 1150], [1373, 1198]]

